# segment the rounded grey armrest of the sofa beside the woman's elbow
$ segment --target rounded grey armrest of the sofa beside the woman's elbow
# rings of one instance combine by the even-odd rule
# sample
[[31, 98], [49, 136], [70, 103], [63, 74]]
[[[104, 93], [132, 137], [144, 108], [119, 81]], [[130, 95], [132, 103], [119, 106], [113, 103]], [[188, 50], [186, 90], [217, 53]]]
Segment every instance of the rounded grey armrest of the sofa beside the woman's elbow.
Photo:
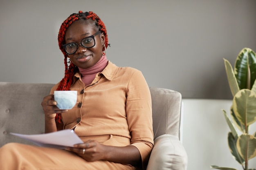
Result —
[[154, 142], [146, 170], [186, 170], [188, 157], [177, 137], [165, 134]]

